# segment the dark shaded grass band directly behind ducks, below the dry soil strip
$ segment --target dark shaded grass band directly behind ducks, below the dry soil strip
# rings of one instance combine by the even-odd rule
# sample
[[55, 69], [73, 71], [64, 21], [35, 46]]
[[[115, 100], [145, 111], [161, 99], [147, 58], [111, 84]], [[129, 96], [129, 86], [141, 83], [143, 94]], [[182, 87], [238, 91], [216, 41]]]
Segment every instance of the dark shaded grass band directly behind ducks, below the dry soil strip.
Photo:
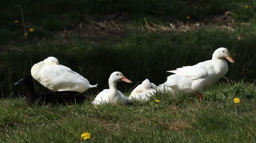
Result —
[[[98, 83], [101, 91], [108, 88], [108, 78], [114, 71], [121, 71], [135, 83], [150, 79], [156, 84], [163, 83], [168, 70], [211, 59], [219, 47], [227, 47], [236, 64], [228, 63], [228, 79], [253, 82], [256, 68], [254, 53], [256, 26], [235, 25], [235, 31], [202, 27], [199, 30], [181, 33], [160, 33], [126, 30], [122, 38], [106, 38], [100, 42], [84, 40], [79, 34], [68, 37], [29, 42], [32, 64], [48, 56], [55, 56], [60, 64], [88, 78], [92, 84]], [[237, 37], [242, 37], [237, 40]], [[28, 48], [25, 43], [14, 44], [0, 54], [2, 97], [12, 95], [13, 83], [30, 73]], [[222, 80], [225, 81], [225, 80]], [[120, 83], [124, 88], [135, 84]]]

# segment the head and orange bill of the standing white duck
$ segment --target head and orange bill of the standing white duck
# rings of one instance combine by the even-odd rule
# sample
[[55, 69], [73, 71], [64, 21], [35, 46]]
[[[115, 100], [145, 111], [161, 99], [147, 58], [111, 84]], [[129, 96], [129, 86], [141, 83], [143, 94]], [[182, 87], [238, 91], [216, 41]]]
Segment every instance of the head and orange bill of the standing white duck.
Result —
[[227, 59], [229, 62], [234, 63], [234, 60], [231, 58], [229, 51], [226, 48], [218, 48], [214, 51], [214, 54], [212, 54], [212, 58], [218, 58], [218, 59]]

